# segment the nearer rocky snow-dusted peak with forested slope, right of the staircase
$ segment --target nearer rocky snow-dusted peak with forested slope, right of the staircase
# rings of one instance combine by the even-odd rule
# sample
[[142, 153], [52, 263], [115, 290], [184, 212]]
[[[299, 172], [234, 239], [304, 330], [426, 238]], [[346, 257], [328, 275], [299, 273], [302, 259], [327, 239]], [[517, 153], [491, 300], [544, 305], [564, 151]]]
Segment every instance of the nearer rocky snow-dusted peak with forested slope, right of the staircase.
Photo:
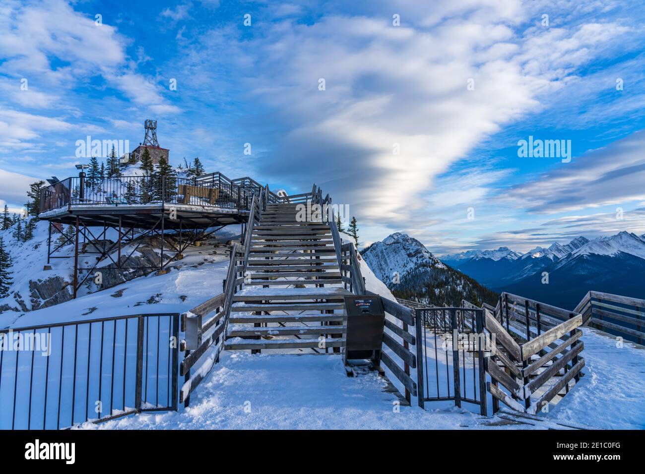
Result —
[[361, 251], [378, 279], [399, 298], [443, 306], [471, 302], [495, 304], [499, 295], [477, 281], [442, 263], [424, 245], [396, 232]]

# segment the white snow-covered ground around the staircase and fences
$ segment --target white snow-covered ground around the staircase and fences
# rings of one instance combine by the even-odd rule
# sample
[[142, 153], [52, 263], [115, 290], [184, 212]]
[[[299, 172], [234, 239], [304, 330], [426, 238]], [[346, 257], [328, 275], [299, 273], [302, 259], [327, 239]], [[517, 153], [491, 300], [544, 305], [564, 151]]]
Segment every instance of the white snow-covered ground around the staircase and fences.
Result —
[[[222, 248], [212, 246], [192, 247], [184, 255], [166, 275], [135, 279], [42, 310], [7, 311], [0, 315], [0, 326], [186, 311], [221, 292], [228, 257]], [[359, 259], [368, 290], [394, 299]], [[432, 339], [428, 341], [432, 344]], [[452, 402], [426, 403], [426, 411], [416, 406], [415, 399], [410, 407], [399, 406], [397, 397], [383, 391], [386, 382], [375, 373], [346, 377], [339, 355], [224, 351], [219, 364], [192, 394], [190, 408], [141, 413], [98, 426], [86, 423], [83, 428], [546, 429], [553, 422], [589, 428], [645, 428], [645, 350], [628, 343], [617, 348], [608, 335], [586, 328], [582, 341], [585, 376], [550, 413], [541, 413], [542, 419], [549, 420], [545, 423], [488, 426], [490, 420], [477, 414], [477, 407], [464, 404], [457, 409]], [[428, 364], [431, 379], [436, 370], [444, 375], [445, 360], [437, 359], [437, 368]], [[403, 390], [387, 369], [386, 375]]]

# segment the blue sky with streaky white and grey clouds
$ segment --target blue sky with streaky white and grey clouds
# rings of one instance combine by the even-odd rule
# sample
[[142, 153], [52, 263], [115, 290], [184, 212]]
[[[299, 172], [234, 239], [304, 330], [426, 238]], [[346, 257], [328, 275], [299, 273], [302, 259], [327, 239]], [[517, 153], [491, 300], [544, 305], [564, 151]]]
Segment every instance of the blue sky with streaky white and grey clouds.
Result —
[[[363, 244], [642, 234], [644, 16], [596, 0], [0, 0], [0, 204], [75, 175], [77, 140], [136, 145], [152, 118], [173, 164], [319, 184]], [[570, 140], [571, 161], [518, 157], [530, 135]]]

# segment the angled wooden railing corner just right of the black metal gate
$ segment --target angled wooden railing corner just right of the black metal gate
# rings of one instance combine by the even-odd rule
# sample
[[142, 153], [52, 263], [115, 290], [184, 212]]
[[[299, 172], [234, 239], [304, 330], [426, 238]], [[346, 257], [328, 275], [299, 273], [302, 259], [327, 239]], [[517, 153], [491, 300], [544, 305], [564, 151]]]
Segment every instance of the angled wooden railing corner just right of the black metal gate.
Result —
[[547, 411], [561, 390], [568, 393], [571, 380], [578, 382], [584, 367], [582, 315], [511, 293], [502, 293], [493, 310], [482, 309], [495, 341], [486, 362], [493, 412], [499, 402], [531, 414]]

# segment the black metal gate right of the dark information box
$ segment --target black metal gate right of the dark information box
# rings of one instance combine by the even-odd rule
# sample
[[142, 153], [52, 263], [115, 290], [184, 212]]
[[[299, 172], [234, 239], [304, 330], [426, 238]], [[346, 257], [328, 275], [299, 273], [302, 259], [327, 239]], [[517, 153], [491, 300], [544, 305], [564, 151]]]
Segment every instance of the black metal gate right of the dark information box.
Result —
[[417, 386], [424, 402], [454, 400], [479, 405], [486, 415], [483, 311], [470, 308], [421, 308], [417, 325]]

